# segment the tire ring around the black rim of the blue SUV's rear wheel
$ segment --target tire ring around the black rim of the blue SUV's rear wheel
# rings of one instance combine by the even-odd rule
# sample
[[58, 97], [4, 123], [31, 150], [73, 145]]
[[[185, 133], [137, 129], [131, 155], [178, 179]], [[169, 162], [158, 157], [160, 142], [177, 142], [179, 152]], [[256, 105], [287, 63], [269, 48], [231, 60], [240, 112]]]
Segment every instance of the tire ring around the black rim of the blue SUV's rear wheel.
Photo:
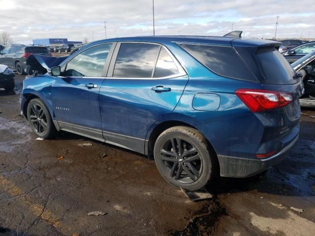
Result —
[[[161, 174], [161, 176], [172, 185], [183, 188], [183, 189], [192, 191], [192, 190], [197, 190], [204, 187], [207, 184], [207, 182], [210, 180], [210, 177], [212, 174], [212, 166], [213, 166], [208, 148], [205, 147], [195, 137], [189, 136], [188, 134], [183, 133], [181, 131], [170, 131], [165, 134], [163, 133], [158, 137], [155, 147], [154, 147], [154, 159], [155, 159], [158, 171]], [[172, 177], [169, 176], [168, 170], [165, 168], [164, 162], [161, 160], [160, 150], [163, 147], [164, 143], [172, 137], [173, 138], [178, 137], [180, 139], [183, 139], [189, 142], [198, 150], [201, 157], [202, 172], [201, 172], [201, 176], [198, 178], [197, 181], [192, 182], [192, 183], [181, 183], [179, 181], [174, 180]]]

